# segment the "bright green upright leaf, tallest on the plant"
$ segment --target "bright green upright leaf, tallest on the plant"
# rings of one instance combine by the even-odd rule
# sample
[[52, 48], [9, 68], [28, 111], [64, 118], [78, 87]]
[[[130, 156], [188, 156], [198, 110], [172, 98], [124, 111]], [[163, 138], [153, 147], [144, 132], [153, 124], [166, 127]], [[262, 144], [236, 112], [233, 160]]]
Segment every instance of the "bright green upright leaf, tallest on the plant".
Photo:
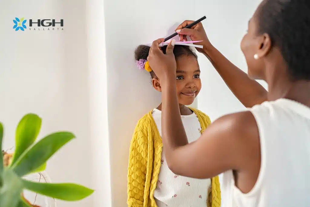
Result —
[[40, 132], [42, 119], [35, 114], [26, 114], [19, 122], [15, 133], [14, 164], [20, 155], [33, 144]]

